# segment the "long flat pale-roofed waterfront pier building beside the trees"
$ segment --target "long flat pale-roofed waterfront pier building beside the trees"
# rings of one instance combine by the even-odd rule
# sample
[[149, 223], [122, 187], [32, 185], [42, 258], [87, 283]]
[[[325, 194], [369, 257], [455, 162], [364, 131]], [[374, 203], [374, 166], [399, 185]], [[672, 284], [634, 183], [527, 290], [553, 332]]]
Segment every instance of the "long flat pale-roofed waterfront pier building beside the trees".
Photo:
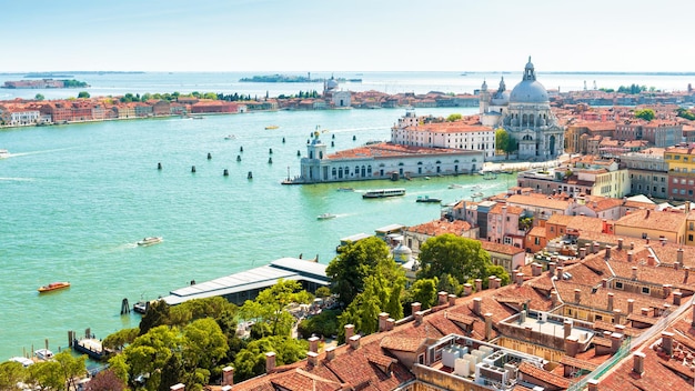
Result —
[[325, 264], [312, 260], [281, 258], [260, 268], [173, 290], [162, 300], [169, 305], [175, 305], [188, 300], [221, 295], [241, 305], [246, 300], [255, 299], [262, 290], [274, 285], [280, 279], [299, 281], [302, 288], [313, 293], [319, 287], [330, 284], [325, 268]]

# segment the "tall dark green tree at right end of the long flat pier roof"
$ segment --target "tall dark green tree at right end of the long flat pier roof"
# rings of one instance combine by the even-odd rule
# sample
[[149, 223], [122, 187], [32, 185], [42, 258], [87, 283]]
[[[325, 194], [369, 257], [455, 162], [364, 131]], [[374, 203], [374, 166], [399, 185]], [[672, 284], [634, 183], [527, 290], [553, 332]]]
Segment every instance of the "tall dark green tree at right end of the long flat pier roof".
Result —
[[345, 245], [325, 269], [331, 278], [331, 291], [343, 305], [350, 305], [364, 290], [364, 279], [372, 274], [381, 260], [389, 259], [386, 243], [371, 237]]

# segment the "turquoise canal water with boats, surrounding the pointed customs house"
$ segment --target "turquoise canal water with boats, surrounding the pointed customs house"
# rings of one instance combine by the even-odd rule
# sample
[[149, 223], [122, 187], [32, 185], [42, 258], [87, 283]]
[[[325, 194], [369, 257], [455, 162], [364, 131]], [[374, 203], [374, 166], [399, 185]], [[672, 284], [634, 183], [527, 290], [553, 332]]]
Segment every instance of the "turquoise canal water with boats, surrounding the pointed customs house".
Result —
[[[462, 110], [417, 111], [452, 112]], [[104, 338], [135, 327], [137, 314], [120, 315], [124, 298], [131, 304], [155, 299], [191, 280], [300, 253], [328, 263], [340, 238], [439, 218], [440, 208], [416, 203], [417, 196], [470, 198], [469, 189], [450, 183], [476, 182], [485, 194], [507, 187], [480, 176], [420, 179], [397, 183], [407, 189], [403, 198], [369, 201], [336, 191], [345, 183], [280, 184], [288, 168], [299, 174], [296, 151], [305, 154], [316, 126], [328, 130], [322, 138], [334, 141], [334, 150], [348, 149], [389, 139], [403, 113], [280, 111], [0, 131], [0, 148], [12, 153], [0, 160], [0, 360], [43, 347], [44, 339], [53, 350], [66, 347], [69, 330], [91, 328]], [[269, 124], [280, 128], [265, 130]], [[360, 191], [394, 183], [348, 186]], [[316, 220], [324, 212], [338, 218]], [[164, 242], [135, 244], [149, 235]], [[72, 285], [39, 295], [37, 288], [52, 281]]]

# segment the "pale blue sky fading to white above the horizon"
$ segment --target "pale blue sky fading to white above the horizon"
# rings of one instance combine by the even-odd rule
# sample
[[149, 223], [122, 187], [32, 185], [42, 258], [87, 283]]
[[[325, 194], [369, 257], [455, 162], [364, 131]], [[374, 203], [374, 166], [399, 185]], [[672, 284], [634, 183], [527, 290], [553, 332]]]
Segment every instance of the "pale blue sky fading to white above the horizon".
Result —
[[[0, 0], [0, 72], [694, 72], [692, 0]], [[520, 63], [522, 66], [520, 66]]]

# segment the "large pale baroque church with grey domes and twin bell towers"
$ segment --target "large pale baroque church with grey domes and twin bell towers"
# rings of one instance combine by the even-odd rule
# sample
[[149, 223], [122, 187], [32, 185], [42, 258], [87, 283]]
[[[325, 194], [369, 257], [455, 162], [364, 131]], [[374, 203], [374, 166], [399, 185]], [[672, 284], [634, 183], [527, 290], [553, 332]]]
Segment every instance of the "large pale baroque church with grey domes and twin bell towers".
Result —
[[551, 112], [545, 87], [536, 81], [528, 57], [522, 81], [512, 92], [506, 90], [504, 77], [492, 93], [483, 81], [480, 92], [481, 122], [494, 129], [502, 128], [518, 144], [518, 159], [546, 161], [563, 153], [564, 128]]

